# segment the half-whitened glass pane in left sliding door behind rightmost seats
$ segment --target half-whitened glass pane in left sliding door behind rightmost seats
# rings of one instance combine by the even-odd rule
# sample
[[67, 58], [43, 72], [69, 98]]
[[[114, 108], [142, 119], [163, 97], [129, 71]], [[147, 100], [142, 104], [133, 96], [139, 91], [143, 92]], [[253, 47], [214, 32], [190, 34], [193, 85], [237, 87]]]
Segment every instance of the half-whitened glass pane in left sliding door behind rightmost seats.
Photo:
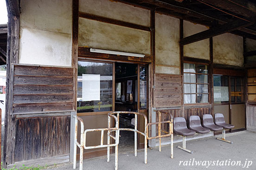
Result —
[[229, 102], [228, 77], [213, 76], [213, 96], [215, 103]]

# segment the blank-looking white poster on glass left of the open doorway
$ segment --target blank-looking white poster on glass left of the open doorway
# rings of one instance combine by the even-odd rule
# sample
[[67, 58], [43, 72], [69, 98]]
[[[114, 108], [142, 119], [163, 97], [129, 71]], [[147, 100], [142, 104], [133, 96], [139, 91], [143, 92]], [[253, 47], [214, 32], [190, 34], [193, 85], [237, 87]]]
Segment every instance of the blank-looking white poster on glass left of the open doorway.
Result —
[[100, 100], [100, 74], [83, 74], [82, 78], [82, 100]]

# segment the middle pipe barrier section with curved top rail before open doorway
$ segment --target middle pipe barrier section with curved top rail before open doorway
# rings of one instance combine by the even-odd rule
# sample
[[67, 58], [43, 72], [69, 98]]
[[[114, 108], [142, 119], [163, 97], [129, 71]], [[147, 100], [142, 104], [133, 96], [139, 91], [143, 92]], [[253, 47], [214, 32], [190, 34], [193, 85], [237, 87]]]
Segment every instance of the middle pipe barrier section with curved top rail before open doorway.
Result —
[[[132, 128], [118, 128], [118, 131], [120, 130], [127, 130], [127, 131], [133, 131], [134, 132], [134, 156], [137, 156], [137, 133], [141, 134], [144, 136], [144, 163], [147, 164], [147, 116], [142, 114], [142, 113], [137, 113], [137, 112], [131, 112], [131, 111], [115, 111], [115, 112], [110, 112], [108, 115], [114, 115], [116, 114], [117, 116], [117, 121], [119, 122], [119, 115], [120, 114], [134, 114], [135, 115], [135, 123], [134, 123], [134, 129]], [[144, 133], [140, 132], [137, 130], [137, 121], [138, 121], [138, 115], [142, 115], [145, 120], [145, 128], [144, 128]], [[108, 122], [108, 128], [110, 128], [110, 121]], [[108, 144], [110, 143], [110, 135], [108, 136]], [[110, 147], [110, 146], [109, 146]], [[107, 155], [108, 155], [108, 161], [109, 161], [109, 154], [110, 154], [110, 149], [108, 147], [107, 150]], [[118, 152], [118, 146], [115, 146], [117, 148]]]

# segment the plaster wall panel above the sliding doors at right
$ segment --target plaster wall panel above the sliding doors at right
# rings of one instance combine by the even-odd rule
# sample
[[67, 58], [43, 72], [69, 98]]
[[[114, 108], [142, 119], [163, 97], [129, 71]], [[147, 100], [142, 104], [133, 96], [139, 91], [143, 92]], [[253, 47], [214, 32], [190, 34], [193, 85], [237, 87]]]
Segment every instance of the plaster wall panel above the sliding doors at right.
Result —
[[213, 62], [243, 67], [243, 37], [230, 33], [214, 36]]

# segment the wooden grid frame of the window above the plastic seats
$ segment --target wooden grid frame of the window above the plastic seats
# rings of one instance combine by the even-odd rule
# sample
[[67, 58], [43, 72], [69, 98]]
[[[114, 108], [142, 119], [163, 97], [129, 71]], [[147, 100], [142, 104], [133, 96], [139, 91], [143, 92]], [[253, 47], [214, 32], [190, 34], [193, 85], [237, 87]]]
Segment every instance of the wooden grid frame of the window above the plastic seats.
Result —
[[[184, 72], [184, 64], [194, 64], [195, 65], [195, 72], [196, 73], [191, 73], [191, 72]], [[206, 73], [197, 73], [197, 65], [205, 65], [207, 66], [207, 74]], [[184, 89], [184, 85], [185, 84], [191, 84], [191, 85], [196, 85], [196, 92], [195, 93], [185, 93], [183, 90], [183, 98], [185, 95], [189, 94], [195, 94], [196, 95], [196, 103], [185, 103], [185, 100], [183, 99], [183, 103], [184, 105], [203, 105], [203, 104], [210, 104], [210, 83], [209, 83], [209, 78], [210, 78], [210, 73], [209, 73], [209, 64], [207, 63], [201, 63], [201, 62], [191, 62], [191, 61], [184, 61], [183, 62], [183, 77], [184, 74], [195, 74], [196, 75], [196, 82], [195, 83], [185, 83], [184, 78], [183, 78], [183, 89]], [[207, 75], [207, 80], [208, 83], [198, 83], [197, 81], [197, 75]], [[198, 93], [198, 85], [208, 85], [208, 93]], [[197, 98], [198, 98], [198, 94], [207, 94], [208, 95], [208, 103], [198, 103]]]

